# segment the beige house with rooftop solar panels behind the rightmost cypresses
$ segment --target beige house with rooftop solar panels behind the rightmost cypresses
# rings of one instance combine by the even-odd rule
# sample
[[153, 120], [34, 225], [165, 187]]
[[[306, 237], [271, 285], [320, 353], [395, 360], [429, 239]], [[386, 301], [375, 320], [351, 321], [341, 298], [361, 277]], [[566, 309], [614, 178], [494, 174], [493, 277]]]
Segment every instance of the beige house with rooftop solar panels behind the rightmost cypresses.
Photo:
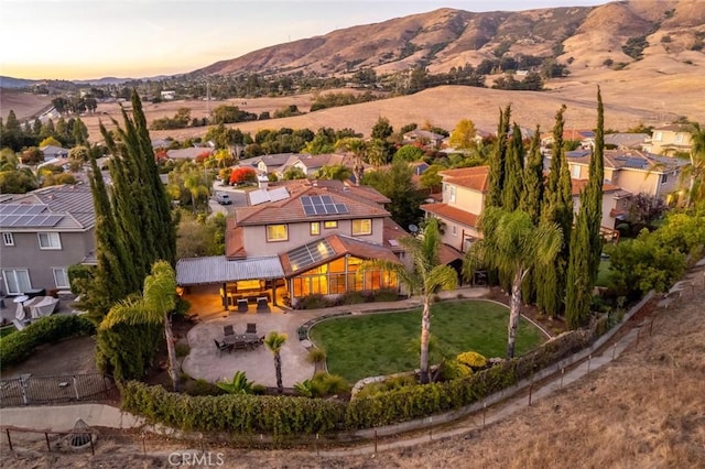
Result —
[[[566, 153], [571, 177], [587, 179], [589, 150]], [[631, 194], [648, 194], [666, 200], [682, 188], [681, 170], [690, 164], [685, 160], [660, 156], [638, 150], [605, 150], [605, 182]], [[550, 155], [547, 160], [550, 160]], [[550, 167], [550, 162], [544, 162]]]

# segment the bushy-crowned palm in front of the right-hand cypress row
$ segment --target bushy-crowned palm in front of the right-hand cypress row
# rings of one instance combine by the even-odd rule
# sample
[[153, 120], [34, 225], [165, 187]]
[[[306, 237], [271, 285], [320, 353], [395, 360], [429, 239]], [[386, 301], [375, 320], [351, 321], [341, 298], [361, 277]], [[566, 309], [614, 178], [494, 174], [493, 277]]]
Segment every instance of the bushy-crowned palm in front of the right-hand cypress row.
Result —
[[485, 238], [465, 254], [463, 269], [470, 276], [477, 266], [489, 266], [512, 280], [507, 338], [507, 358], [512, 358], [521, 315], [521, 284], [533, 268], [549, 268], [554, 262], [561, 249], [561, 229], [547, 222], [536, 227], [525, 211], [496, 207], [485, 208], [479, 226]]

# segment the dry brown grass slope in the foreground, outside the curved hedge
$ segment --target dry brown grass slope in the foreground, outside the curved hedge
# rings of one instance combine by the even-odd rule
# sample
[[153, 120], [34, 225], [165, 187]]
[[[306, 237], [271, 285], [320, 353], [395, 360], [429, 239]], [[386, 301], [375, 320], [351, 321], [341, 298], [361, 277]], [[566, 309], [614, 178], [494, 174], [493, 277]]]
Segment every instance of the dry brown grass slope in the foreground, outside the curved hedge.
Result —
[[[640, 340], [615, 362], [481, 430], [335, 458], [303, 450], [212, 449], [223, 452], [228, 468], [702, 468], [704, 304], [701, 280], [695, 294], [688, 291], [675, 307], [654, 310], [647, 318], [654, 319], [653, 334], [644, 327]], [[43, 439], [23, 444], [19, 459], [6, 452], [0, 466], [169, 467], [171, 451], [198, 446], [150, 437], [142, 455], [139, 438], [124, 435], [100, 439], [94, 458], [46, 455], [43, 445]]]

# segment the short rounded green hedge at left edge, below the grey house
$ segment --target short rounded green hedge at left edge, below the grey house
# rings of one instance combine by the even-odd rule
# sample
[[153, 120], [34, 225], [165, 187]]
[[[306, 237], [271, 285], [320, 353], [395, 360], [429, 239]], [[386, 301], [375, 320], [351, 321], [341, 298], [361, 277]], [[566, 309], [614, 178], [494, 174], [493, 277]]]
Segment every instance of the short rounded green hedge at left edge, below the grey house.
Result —
[[0, 338], [0, 367], [8, 368], [29, 358], [34, 349], [69, 337], [95, 334], [95, 326], [83, 316], [47, 316], [22, 330]]

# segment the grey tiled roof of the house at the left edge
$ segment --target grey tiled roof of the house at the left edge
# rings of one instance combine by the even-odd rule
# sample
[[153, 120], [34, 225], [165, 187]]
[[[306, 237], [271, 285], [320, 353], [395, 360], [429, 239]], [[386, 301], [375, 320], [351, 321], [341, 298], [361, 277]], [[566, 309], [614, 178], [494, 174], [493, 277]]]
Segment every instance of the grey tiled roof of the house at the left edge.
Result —
[[[93, 194], [90, 187], [84, 184], [64, 184], [32, 190], [28, 194], [11, 195], [2, 200], [2, 210], [8, 215], [11, 211], [9, 206], [19, 206], [24, 207], [18, 208], [21, 211], [34, 210], [37, 214], [54, 216], [53, 219], [56, 219], [56, 222], [51, 227], [24, 225], [26, 229], [33, 231], [36, 231], [37, 228], [51, 228], [53, 231], [85, 231], [96, 225]], [[36, 208], [26, 208], [31, 206]], [[40, 210], [40, 207], [43, 208]], [[19, 212], [15, 211], [15, 214]], [[10, 223], [10, 218], [3, 217], [0, 220], [0, 227], [7, 228], [9, 225], [6, 223]], [[22, 231], [23, 226], [12, 226], [12, 230]]]

